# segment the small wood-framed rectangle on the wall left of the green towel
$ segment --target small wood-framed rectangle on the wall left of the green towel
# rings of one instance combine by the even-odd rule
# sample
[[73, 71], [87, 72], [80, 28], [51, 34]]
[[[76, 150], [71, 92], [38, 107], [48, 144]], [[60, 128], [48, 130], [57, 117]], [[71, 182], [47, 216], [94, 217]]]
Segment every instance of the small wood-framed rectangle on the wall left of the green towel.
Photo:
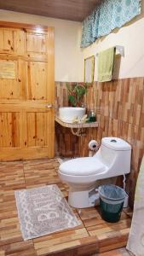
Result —
[[94, 82], [95, 73], [95, 56], [92, 55], [89, 58], [84, 59], [84, 82]]

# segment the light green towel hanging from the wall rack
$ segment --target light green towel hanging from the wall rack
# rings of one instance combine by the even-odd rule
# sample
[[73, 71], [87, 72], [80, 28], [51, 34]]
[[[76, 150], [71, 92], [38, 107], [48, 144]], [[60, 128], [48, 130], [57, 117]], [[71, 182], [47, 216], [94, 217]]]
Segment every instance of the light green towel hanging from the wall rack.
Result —
[[115, 47], [101, 51], [98, 55], [98, 81], [112, 80], [114, 66]]

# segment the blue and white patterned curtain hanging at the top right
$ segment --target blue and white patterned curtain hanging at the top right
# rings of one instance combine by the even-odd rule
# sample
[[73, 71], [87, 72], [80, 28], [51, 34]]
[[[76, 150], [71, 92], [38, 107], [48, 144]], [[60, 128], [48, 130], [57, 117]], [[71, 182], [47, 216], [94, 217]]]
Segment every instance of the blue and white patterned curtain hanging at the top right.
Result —
[[116, 27], [124, 26], [141, 14], [141, 0], [107, 0], [86, 18], [82, 25], [81, 47], [87, 47], [96, 38], [105, 36]]

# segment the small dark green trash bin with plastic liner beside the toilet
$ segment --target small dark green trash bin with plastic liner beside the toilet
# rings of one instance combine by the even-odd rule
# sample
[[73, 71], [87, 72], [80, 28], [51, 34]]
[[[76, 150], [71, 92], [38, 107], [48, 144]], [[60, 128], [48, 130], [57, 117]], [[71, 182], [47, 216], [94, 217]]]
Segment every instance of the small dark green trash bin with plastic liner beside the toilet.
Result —
[[101, 217], [107, 222], [118, 222], [124, 206], [126, 193], [115, 185], [102, 185], [100, 195]]

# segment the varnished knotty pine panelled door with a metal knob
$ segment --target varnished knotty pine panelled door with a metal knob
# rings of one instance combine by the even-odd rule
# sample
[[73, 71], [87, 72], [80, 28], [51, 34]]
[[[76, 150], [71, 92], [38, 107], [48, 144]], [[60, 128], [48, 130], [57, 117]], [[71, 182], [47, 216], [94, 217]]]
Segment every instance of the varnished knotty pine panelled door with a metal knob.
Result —
[[54, 28], [0, 22], [0, 160], [55, 154]]

